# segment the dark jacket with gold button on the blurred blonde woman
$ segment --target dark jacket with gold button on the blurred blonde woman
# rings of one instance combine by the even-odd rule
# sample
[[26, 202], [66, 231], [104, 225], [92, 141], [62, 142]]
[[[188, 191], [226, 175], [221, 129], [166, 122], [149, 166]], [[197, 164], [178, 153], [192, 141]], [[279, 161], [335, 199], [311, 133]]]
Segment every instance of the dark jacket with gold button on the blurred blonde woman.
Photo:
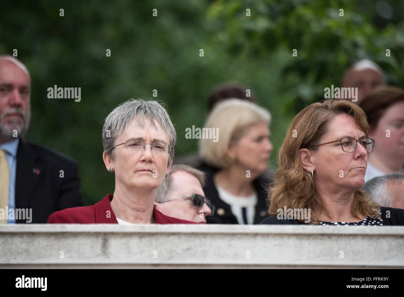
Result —
[[[217, 168], [202, 163], [198, 167], [206, 173], [206, 184], [203, 188], [205, 196], [215, 205], [215, 214], [206, 216], [207, 224], [238, 224], [236, 216], [231, 213], [230, 205], [220, 199], [217, 188], [213, 181], [213, 174], [217, 172]], [[255, 205], [254, 224], [259, 224], [263, 219], [268, 217], [267, 208], [267, 191], [265, 187], [270, 183], [269, 176], [262, 175], [252, 181], [252, 184], [257, 192], [258, 203]], [[220, 209], [220, 210], [219, 210]]]

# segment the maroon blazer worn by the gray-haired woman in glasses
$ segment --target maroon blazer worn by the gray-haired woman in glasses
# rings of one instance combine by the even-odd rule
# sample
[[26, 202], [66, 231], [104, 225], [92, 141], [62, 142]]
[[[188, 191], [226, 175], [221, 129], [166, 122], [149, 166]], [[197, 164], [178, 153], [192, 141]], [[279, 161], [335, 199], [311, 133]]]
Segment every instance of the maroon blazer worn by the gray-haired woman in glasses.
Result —
[[[111, 200], [114, 196], [107, 195], [100, 202], [90, 206], [80, 206], [63, 209], [52, 213], [48, 224], [118, 224]], [[108, 212], [109, 211], [109, 212]], [[197, 224], [162, 214], [156, 207], [153, 209], [156, 224]]]

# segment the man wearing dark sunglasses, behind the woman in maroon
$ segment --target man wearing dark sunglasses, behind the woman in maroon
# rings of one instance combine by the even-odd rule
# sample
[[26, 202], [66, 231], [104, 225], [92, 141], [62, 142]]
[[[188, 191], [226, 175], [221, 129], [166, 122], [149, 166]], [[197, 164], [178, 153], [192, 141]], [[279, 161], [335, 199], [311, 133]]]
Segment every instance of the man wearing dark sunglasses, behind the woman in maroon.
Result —
[[204, 173], [187, 165], [173, 165], [170, 174], [157, 188], [155, 205], [165, 215], [196, 223], [206, 223], [215, 211], [205, 197]]

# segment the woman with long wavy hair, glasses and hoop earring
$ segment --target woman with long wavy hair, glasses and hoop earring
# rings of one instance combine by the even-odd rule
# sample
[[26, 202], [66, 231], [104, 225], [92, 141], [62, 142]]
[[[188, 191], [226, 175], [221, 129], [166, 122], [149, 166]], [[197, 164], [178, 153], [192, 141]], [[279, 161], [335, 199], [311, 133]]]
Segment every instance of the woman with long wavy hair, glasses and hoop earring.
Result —
[[269, 190], [271, 217], [261, 224], [403, 225], [404, 210], [380, 207], [361, 190], [375, 146], [368, 129], [364, 111], [345, 100], [317, 102], [297, 114]]

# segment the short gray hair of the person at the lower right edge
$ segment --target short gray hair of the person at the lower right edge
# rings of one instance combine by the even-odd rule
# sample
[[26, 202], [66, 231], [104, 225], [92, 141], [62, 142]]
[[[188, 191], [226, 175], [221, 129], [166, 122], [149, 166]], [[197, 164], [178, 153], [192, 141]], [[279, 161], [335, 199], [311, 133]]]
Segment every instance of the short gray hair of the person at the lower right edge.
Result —
[[391, 207], [393, 205], [393, 199], [391, 199], [387, 187], [388, 182], [404, 183], [404, 174], [394, 173], [372, 178], [366, 182], [363, 189], [369, 192], [372, 199], [380, 206]]

